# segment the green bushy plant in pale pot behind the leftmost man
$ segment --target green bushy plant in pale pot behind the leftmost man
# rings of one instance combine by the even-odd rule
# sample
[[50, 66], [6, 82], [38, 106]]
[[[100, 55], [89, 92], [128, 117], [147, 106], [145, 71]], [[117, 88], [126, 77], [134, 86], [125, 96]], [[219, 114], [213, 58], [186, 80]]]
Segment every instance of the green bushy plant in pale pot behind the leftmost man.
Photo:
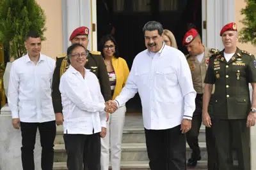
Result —
[[26, 34], [33, 30], [45, 40], [44, 10], [35, 0], [0, 0], [0, 41], [8, 48], [10, 62], [4, 71], [4, 91], [8, 94], [8, 81], [12, 61], [27, 53], [24, 46]]

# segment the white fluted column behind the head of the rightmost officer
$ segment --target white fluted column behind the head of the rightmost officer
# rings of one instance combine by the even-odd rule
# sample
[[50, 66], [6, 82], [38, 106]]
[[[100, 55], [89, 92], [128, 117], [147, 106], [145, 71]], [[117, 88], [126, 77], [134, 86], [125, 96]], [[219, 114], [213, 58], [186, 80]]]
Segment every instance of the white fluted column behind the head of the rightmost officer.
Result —
[[207, 1], [207, 47], [223, 49], [220, 31], [222, 27], [235, 20], [234, 0]]

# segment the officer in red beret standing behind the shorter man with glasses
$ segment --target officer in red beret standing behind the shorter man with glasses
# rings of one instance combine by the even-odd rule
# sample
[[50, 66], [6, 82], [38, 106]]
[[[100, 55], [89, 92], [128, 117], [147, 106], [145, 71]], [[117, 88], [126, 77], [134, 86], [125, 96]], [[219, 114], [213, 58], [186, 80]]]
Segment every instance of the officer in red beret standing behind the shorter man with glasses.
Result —
[[[72, 32], [69, 40], [72, 44], [81, 43], [84, 48], [87, 49], [89, 42], [88, 34], [89, 29], [87, 27], [78, 27]], [[105, 101], [108, 101], [111, 99], [111, 89], [109, 85], [108, 72], [102, 55], [100, 55], [100, 52], [87, 52], [88, 56], [86, 58], [86, 65], [84, 67], [86, 67], [86, 69], [90, 69], [90, 71], [97, 76], [99, 79], [102, 96], [104, 97]], [[56, 115], [57, 125], [63, 124], [61, 94], [59, 90], [60, 77], [68, 69], [68, 66], [69, 61], [66, 53], [59, 55], [56, 58], [56, 68], [52, 78], [52, 104]]]

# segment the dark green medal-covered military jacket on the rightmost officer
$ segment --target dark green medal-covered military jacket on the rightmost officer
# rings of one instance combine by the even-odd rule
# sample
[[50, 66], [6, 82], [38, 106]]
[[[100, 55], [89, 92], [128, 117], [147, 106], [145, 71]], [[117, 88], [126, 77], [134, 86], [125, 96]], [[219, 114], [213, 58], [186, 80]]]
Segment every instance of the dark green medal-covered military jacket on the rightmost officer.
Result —
[[210, 58], [204, 82], [215, 85], [213, 118], [246, 119], [251, 107], [248, 83], [256, 82], [256, 60], [237, 48], [227, 62], [223, 50]]

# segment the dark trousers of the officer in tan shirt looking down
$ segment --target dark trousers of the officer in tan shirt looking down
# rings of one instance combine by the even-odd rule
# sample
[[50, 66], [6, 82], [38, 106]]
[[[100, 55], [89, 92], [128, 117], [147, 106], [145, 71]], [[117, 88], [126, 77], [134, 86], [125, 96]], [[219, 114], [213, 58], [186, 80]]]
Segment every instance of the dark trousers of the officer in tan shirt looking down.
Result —
[[[203, 107], [202, 97], [203, 97], [202, 94], [196, 95], [196, 99], [195, 99], [196, 110], [193, 113], [191, 129], [186, 133], [186, 139], [187, 139], [188, 145], [192, 150], [191, 158], [193, 159], [197, 159], [198, 157], [200, 157], [200, 147], [198, 144], [198, 136], [199, 136], [200, 127], [202, 125], [202, 107]], [[209, 103], [208, 112], [209, 114], [212, 113], [212, 98]], [[214, 124], [213, 120], [212, 120], [212, 124]], [[214, 139], [214, 134], [212, 132], [212, 127], [205, 127], [205, 138], [206, 138], [206, 147], [207, 147], [207, 155], [208, 155], [207, 167], [209, 170], [218, 169], [218, 165], [217, 165], [218, 153], [216, 152], [215, 139]]]

